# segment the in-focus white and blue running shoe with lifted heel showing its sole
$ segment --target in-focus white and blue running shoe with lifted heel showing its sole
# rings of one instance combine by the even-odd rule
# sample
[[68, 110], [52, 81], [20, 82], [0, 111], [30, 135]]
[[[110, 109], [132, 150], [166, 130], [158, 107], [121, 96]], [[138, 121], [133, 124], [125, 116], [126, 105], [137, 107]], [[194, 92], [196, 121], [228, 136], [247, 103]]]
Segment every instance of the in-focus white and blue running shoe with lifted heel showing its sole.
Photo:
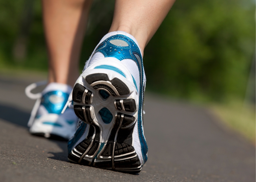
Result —
[[110, 32], [96, 46], [76, 81], [72, 98], [79, 117], [68, 141], [68, 160], [139, 173], [147, 161], [143, 132], [145, 73], [135, 38]]

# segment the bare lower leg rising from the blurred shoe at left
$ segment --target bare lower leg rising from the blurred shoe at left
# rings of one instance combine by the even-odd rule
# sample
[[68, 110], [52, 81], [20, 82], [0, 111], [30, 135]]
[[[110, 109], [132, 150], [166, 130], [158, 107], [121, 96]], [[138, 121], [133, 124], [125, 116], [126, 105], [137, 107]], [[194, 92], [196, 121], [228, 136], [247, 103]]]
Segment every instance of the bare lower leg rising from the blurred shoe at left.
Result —
[[92, 0], [42, 0], [50, 82], [74, 85]]

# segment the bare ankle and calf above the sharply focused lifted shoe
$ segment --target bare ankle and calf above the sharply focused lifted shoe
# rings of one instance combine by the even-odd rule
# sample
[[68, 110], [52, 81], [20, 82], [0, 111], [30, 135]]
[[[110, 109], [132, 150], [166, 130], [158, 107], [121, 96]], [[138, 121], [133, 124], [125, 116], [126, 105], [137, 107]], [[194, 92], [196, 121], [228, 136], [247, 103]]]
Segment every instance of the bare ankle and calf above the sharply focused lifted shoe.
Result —
[[135, 37], [142, 50], [157, 31], [175, 0], [116, 0], [109, 32], [124, 31]]

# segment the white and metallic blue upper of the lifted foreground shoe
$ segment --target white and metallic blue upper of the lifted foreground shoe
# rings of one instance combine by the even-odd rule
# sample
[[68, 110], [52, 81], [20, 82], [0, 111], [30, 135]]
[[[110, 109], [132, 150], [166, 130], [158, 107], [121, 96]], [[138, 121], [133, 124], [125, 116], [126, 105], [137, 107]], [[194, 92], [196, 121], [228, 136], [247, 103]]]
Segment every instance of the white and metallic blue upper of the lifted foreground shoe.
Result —
[[[134, 148], [141, 150], [139, 153], [141, 153], [142, 159], [140, 160], [143, 165], [147, 161], [148, 147], [143, 131], [143, 100], [146, 78], [142, 62], [142, 54], [138, 47], [137, 41], [132, 35], [122, 31], [110, 32], [105, 35], [100, 43], [96, 46], [91, 57], [86, 62], [83, 72], [86, 72], [87, 68], [95, 64], [98, 60], [109, 57], [116, 58], [123, 65], [125, 65], [126, 69], [128, 69], [132, 76], [134, 87], [136, 87], [136, 90], [138, 91], [138, 124], [136, 125], [137, 128], [134, 128], [134, 133], [137, 135], [135, 136], [136, 139], [134, 145], [137, 145], [137, 147], [134, 146]], [[96, 68], [109, 69], [122, 75], [122, 71], [120, 69], [108, 65], [107, 61], [106, 64], [99, 65], [95, 67], [95, 69]], [[76, 134], [68, 142], [69, 152], [71, 152], [77, 143], [81, 142], [83, 136], [85, 135], [84, 133], [87, 124], [83, 123], [82, 121], [79, 122], [79, 124], [80, 125], [77, 127]]]

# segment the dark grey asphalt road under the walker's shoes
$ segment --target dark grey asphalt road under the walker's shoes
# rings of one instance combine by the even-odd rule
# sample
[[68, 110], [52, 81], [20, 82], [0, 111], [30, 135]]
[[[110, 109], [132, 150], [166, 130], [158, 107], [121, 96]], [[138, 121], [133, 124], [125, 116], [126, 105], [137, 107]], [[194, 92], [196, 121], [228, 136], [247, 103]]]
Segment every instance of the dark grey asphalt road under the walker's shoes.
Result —
[[44, 76], [0, 74], [0, 181], [255, 181], [255, 147], [202, 107], [145, 97], [148, 161], [137, 175], [77, 165], [67, 143], [32, 136], [25, 87]]

